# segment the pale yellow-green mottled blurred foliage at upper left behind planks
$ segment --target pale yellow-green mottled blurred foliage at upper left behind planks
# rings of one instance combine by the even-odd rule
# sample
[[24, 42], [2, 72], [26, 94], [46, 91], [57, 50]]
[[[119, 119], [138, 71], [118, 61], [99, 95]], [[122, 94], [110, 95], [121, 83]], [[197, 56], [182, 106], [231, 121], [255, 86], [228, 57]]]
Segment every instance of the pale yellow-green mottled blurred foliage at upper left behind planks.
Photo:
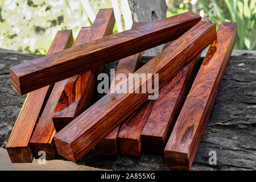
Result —
[[[109, 1], [91, 1], [95, 13]], [[0, 47], [46, 54], [58, 30], [76, 38], [91, 22], [80, 0], [0, 0]]]

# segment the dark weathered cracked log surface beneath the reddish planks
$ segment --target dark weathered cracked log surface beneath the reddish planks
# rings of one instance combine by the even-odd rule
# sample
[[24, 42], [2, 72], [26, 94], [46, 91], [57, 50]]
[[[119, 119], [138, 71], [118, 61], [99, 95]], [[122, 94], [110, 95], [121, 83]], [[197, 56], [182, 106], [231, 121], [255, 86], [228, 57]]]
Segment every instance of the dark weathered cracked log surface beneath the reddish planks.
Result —
[[[41, 56], [0, 48], [0, 147], [6, 146], [26, 98], [11, 88], [9, 67]], [[144, 57], [142, 64], [151, 58]], [[233, 51], [191, 170], [256, 170], [255, 60], [256, 51]], [[110, 68], [116, 68], [117, 63], [107, 65], [103, 72], [109, 75]], [[97, 98], [101, 97], [98, 94]], [[216, 151], [216, 165], [209, 164], [209, 151]], [[169, 170], [163, 155], [147, 152], [133, 158], [95, 156], [92, 150], [77, 164], [114, 170]]]

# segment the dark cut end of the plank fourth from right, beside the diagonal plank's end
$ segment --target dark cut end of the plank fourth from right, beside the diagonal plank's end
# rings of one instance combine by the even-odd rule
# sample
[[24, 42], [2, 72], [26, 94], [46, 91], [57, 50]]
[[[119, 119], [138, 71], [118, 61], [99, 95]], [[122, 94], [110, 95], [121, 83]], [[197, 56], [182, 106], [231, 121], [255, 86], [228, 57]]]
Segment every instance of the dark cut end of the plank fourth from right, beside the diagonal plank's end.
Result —
[[95, 155], [117, 155], [117, 139], [102, 139], [94, 146]]

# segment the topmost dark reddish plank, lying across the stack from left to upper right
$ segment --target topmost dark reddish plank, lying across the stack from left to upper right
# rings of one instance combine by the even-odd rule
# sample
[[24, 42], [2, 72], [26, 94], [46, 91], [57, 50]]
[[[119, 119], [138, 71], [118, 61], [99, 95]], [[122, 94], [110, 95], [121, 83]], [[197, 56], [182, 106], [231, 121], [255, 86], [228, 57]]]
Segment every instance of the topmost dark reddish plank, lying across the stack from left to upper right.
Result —
[[199, 15], [183, 13], [15, 65], [10, 68], [11, 85], [19, 94], [31, 92], [170, 42], [184, 34], [200, 19]]

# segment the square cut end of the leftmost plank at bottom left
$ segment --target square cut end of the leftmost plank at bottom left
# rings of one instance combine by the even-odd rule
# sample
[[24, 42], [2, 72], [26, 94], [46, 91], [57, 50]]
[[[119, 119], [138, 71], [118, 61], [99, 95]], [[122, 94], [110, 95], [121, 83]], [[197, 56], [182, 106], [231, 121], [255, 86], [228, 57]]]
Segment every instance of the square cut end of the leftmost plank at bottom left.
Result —
[[[34, 156], [29, 146], [24, 147], [7, 147], [6, 150], [9, 154], [12, 163], [32, 163]], [[17, 157], [18, 156], [18, 157]]]

